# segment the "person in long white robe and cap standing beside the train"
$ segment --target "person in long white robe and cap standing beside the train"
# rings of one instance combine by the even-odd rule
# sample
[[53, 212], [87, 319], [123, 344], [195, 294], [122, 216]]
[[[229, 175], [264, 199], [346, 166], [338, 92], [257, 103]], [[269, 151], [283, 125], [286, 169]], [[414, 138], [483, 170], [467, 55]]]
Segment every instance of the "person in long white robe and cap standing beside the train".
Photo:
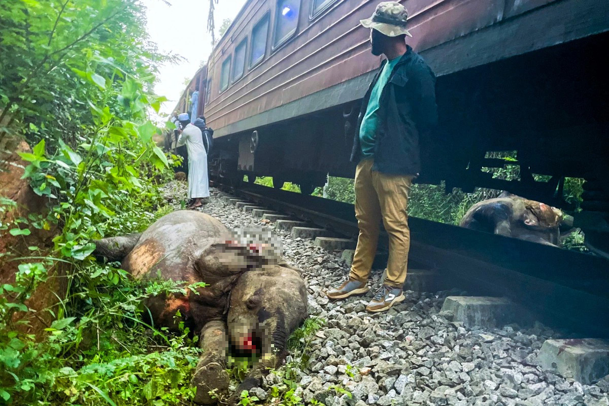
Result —
[[178, 116], [180, 136], [178, 145], [186, 144], [188, 151], [188, 198], [194, 199], [191, 209], [203, 206], [202, 199], [209, 197], [209, 180], [207, 177], [207, 152], [203, 144], [201, 130], [192, 125], [188, 113]]

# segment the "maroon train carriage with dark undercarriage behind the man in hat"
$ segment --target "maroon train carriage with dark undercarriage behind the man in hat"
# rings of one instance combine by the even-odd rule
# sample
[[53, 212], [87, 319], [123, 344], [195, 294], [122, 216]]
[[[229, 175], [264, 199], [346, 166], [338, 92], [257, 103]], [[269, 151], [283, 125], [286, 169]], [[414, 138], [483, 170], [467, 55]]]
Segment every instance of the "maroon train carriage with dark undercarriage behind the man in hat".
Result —
[[[381, 62], [359, 25], [379, 0], [248, 0], [214, 48], [201, 111], [212, 171], [272, 176], [310, 192], [348, 162], [359, 104]], [[474, 186], [566, 207], [587, 180], [580, 225], [607, 230], [609, 7], [603, 0], [407, 0], [409, 44], [438, 76], [440, 129], [423, 183]], [[185, 99], [188, 99], [188, 91]], [[520, 179], [491, 178], [490, 151], [518, 151]], [[430, 157], [431, 158], [428, 158]], [[551, 175], [547, 182], [533, 174]]]

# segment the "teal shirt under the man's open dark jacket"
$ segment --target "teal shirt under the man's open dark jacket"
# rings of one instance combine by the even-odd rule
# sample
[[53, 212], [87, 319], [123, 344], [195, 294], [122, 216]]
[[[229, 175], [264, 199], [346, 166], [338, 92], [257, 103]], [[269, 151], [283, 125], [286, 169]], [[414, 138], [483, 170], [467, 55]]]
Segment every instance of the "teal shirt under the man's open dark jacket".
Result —
[[376, 81], [375, 87], [370, 94], [368, 108], [366, 109], [366, 114], [364, 114], [364, 119], [362, 119], [362, 126], [359, 128], [359, 144], [362, 147], [362, 159], [375, 155], [376, 128], [378, 128], [378, 110], [382, 89], [387, 84], [389, 76], [395, 65], [398, 65], [400, 58], [398, 57], [385, 63], [379, 75], [379, 80]]

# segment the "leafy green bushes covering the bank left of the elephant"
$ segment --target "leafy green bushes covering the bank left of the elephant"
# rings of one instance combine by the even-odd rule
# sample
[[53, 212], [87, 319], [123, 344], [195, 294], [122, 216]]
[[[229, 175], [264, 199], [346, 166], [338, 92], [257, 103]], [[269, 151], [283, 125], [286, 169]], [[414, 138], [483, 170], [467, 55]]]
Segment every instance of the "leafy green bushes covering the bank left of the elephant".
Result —
[[[27, 247], [0, 257], [19, 264], [0, 285], [0, 403], [161, 406], [192, 397], [198, 351], [189, 332], [171, 336], [142, 321], [146, 298], [183, 287], [132, 281], [90, 255], [92, 239], [141, 231], [169, 210], [155, 179], [169, 176], [175, 157], [155, 145], [160, 131], [148, 119], [164, 100], [152, 88], [166, 58], [145, 25], [143, 6], [128, 0], [0, 9], [0, 152], [20, 139], [34, 145], [21, 153], [24, 177], [49, 206], [0, 224], [0, 237]], [[15, 209], [1, 199], [0, 214]], [[54, 232], [50, 246], [28, 240], [39, 229]], [[28, 299], [44, 285], [65, 289], [35, 312]], [[36, 320], [49, 320], [38, 335], [28, 331]]]

